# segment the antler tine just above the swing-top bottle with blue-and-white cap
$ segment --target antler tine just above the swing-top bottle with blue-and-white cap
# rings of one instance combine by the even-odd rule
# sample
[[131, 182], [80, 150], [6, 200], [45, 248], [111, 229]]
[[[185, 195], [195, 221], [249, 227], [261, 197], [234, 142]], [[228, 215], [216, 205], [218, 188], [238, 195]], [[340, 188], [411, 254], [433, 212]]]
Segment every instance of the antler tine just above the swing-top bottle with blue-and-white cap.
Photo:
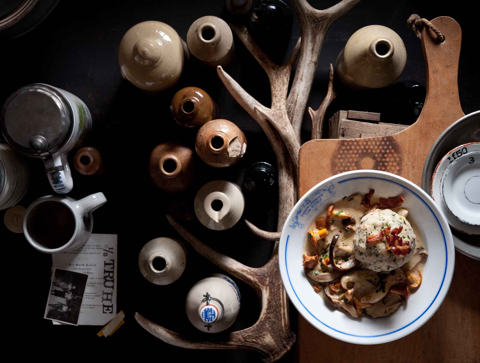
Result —
[[224, 271], [239, 278], [241, 281], [248, 283], [255, 289], [255, 291], [258, 291], [260, 281], [256, 278], [256, 269], [245, 266], [237, 260], [225, 256], [217, 252], [213, 248], [205, 245], [193, 234], [183, 228], [180, 223], [175, 221], [170, 215], [167, 215], [167, 219], [168, 222], [172, 225], [172, 227], [175, 228], [175, 230], [183, 237], [183, 239], [190, 243], [190, 245], [192, 245], [192, 247], [204, 258], [208, 259], [210, 262], [223, 269]]

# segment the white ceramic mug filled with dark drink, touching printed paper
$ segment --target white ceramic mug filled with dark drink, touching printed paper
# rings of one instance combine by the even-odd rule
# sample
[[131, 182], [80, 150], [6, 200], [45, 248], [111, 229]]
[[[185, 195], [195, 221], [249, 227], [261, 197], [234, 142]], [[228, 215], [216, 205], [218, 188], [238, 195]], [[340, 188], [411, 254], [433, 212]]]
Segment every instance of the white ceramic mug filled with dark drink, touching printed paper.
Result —
[[36, 199], [25, 212], [25, 238], [40, 252], [72, 251], [88, 241], [93, 229], [92, 212], [106, 202], [103, 193], [80, 200], [53, 195]]

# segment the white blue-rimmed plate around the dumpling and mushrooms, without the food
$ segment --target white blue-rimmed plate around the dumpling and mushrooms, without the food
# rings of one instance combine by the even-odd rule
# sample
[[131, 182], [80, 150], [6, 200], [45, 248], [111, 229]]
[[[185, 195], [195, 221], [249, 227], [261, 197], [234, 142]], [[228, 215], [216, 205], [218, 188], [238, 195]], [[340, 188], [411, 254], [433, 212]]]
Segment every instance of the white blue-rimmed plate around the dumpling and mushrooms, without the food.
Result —
[[[416, 222], [429, 254], [419, 289], [395, 314], [376, 318], [362, 314], [353, 318], [336, 310], [312, 289], [302, 266], [307, 226], [329, 204], [344, 196], [401, 194], [408, 220]], [[452, 281], [455, 247], [450, 227], [435, 202], [405, 178], [377, 170], [355, 170], [337, 174], [317, 184], [300, 198], [282, 229], [278, 249], [283, 285], [299, 313], [315, 328], [336, 339], [356, 344], [378, 344], [402, 338], [420, 328], [442, 304]]]

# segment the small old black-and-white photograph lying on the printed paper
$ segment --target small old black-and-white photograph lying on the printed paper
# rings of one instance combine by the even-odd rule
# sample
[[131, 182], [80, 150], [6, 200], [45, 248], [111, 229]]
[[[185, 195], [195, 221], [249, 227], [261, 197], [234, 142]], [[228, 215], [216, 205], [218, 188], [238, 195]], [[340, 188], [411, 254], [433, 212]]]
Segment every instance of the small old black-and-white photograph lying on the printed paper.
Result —
[[78, 325], [87, 280], [87, 274], [55, 268], [44, 318]]

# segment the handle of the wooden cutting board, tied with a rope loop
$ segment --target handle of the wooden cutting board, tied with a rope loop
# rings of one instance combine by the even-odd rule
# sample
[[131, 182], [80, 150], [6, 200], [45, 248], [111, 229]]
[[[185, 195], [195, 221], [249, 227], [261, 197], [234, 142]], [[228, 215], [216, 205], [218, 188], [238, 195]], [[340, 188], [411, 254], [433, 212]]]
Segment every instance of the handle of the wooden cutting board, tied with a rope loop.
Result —
[[[462, 43], [460, 25], [449, 16], [440, 16], [431, 21], [444, 35], [439, 43], [435, 33], [428, 27], [421, 32], [421, 43], [427, 66], [427, 96], [417, 123], [432, 121], [444, 129], [452, 123], [452, 117], [442, 119], [442, 115], [464, 116], [458, 97], [458, 60]], [[431, 125], [433, 126], [433, 125]]]

